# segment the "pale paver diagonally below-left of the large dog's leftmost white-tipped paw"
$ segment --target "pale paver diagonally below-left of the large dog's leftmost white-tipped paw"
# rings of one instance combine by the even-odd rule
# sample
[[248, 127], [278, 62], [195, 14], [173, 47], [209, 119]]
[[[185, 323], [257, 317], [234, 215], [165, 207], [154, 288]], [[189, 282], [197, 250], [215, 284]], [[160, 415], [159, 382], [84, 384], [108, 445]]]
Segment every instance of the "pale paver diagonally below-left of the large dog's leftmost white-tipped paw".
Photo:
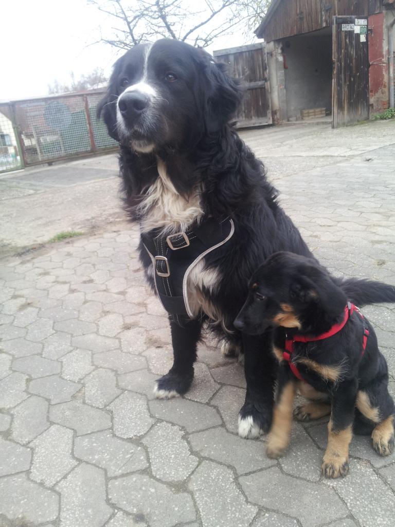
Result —
[[146, 398], [140, 394], [124, 393], [108, 408], [114, 415], [114, 433], [125, 439], [145, 434], [154, 423]]

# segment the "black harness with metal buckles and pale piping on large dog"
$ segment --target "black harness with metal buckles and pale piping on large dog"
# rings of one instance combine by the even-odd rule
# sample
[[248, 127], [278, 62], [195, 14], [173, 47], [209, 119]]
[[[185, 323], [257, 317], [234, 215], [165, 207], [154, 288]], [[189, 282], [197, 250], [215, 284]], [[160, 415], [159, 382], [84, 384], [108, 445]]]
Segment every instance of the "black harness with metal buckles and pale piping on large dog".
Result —
[[187, 280], [193, 267], [209, 252], [224, 245], [234, 233], [229, 218], [208, 218], [186, 232], [170, 236], [161, 229], [141, 235], [149, 253], [157, 295], [172, 319], [181, 327], [193, 318], [187, 298]]

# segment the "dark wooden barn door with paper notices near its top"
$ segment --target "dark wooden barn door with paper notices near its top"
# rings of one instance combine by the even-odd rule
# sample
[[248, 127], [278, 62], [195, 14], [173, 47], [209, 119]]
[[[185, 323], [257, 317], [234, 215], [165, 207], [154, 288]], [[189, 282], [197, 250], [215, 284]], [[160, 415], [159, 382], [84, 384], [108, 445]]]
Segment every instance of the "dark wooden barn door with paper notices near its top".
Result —
[[368, 17], [333, 17], [332, 128], [369, 119]]

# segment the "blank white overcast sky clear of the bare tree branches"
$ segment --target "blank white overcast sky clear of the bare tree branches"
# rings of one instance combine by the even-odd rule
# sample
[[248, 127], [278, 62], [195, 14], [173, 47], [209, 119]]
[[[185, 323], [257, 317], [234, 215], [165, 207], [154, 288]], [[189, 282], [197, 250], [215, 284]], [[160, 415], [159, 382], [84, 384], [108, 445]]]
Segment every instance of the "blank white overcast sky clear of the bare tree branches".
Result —
[[[102, 67], [108, 74], [119, 52], [94, 44], [98, 26], [111, 27], [86, 0], [1, 0], [0, 100], [46, 95], [55, 79], [70, 80]], [[240, 30], [208, 49], [245, 43]]]

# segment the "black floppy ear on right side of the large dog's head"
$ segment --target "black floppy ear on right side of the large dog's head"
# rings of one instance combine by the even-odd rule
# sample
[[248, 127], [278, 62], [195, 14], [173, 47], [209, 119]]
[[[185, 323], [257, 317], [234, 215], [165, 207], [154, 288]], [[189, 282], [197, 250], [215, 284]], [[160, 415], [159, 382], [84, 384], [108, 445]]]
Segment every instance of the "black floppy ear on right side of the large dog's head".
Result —
[[234, 118], [243, 99], [243, 90], [238, 81], [232, 79], [228, 70], [228, 65], [216, 63], [212, 59], [206, 69], [211, 88], [207, 115], [209, 132], [219, 130]]

